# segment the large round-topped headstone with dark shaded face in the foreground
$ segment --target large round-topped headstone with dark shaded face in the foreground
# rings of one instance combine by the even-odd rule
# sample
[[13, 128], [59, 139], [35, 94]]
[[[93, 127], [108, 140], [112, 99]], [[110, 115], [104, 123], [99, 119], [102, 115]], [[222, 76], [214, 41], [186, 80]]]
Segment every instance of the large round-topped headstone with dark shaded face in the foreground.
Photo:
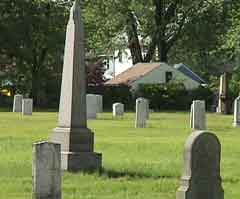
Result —
[[177, 199], [223, 199], [220, 176], [221, 144], [216, 135], [195, 131], [187, 139], [184, 172]]

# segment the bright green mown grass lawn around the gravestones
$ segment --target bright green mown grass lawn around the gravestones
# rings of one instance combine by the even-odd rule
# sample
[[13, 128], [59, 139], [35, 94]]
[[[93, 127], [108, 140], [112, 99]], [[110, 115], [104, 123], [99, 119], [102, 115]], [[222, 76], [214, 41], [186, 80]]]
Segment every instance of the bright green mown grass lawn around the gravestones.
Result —
[[[222, 143], [221, 173], [225, 198], [240, 197], [240, 128], [232, 116], [208, 114], [208, 128]], [[113, 120], [111, 113], [89, 121], [95, 151], [103, 153], [104, 171], [63, 175], [63, 199], [174, 199], [183, 168], [189, 113], [153, 113], [148, 128], [134, 128], [134, 114]], [[32, 117], [0, 112], [0, 198], [30, 199], [32, 143], [46, 140], [57, 113]]]

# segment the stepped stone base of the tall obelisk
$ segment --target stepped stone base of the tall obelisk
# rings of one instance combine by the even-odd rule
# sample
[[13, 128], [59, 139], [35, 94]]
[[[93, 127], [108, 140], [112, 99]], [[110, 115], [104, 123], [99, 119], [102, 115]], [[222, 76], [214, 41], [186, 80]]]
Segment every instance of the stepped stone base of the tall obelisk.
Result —
[[102, 155], [93, 152], [94, 133], [88, 128], [57, 127], [50, 140], [61, 144], [61, 168], [68, 171], [100, 170]]

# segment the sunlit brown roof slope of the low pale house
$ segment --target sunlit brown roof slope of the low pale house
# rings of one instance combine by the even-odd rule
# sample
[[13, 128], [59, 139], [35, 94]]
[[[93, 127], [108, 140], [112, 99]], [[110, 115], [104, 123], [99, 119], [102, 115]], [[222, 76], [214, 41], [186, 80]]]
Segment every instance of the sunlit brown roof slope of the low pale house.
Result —
[[107, 85], [119, 85], [126, 84], [129, 85], [139, 78], [150, 73], [154, 69], [160, 67], [164, 63], [138, 63], [121, 74], [117, 75], [115, 78], [107, 81]]

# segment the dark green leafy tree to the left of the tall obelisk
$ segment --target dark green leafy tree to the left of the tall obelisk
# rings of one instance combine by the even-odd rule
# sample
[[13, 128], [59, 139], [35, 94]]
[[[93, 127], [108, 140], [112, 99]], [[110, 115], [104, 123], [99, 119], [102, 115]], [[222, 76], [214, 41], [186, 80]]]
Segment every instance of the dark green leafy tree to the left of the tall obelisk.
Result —
[[68, 7], [58, 2], [62, 1], [0, 3], [0, 52], [7, 60], [1, 63], [1, 70], [37, 104], [46, 80], [61, 71]]

